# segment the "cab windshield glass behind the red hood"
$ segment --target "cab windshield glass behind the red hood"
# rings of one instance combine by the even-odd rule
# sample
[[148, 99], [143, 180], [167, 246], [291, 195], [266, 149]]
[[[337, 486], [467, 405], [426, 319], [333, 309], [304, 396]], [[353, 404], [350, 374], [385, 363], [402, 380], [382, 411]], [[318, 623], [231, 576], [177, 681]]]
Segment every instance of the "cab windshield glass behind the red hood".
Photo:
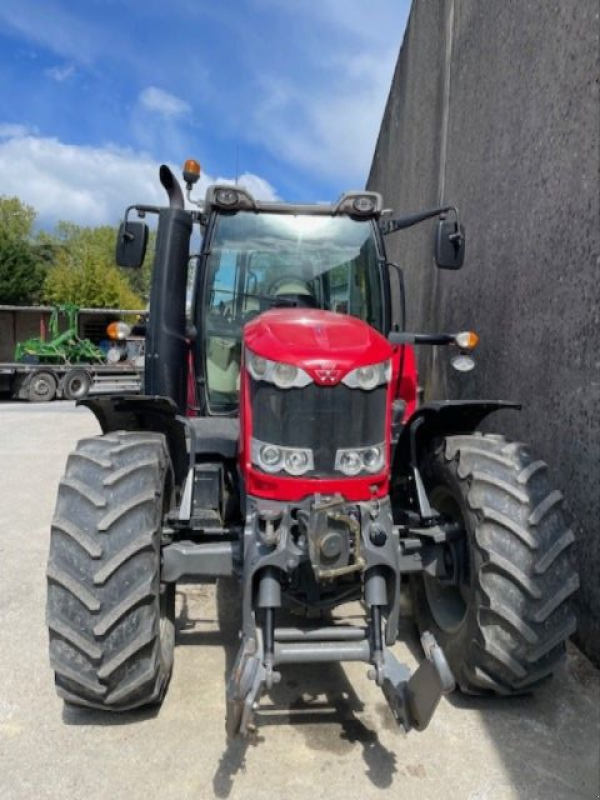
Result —
[[373, 223], [349, 217], [219, 215], [204, 270], [207, 401], [211, 413], [238, 403], [242, 329], [274, 307], [351, 314], [377, 330], [383, 298]]

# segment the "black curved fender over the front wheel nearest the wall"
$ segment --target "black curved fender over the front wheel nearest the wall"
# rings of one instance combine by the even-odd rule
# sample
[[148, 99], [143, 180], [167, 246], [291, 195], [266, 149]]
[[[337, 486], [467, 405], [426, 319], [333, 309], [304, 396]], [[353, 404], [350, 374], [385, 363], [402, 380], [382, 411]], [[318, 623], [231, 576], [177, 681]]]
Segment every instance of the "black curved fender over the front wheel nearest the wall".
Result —
[[521, 405], [505, 400], [445, 400], [420, 406], [402, 426], [393, 472], [417, 467], [420, 454], [433, 439], [473, 433], [490, 414], [507, 409], [520, 411]]

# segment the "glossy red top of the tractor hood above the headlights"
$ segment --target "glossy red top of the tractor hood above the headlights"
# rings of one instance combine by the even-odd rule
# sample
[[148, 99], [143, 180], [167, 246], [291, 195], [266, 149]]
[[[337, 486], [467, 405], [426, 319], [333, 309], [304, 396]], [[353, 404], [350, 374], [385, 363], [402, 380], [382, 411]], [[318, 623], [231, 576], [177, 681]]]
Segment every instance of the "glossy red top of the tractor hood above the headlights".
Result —
[[312, 309], [266, 311], [244, 328], [252, 352], [302, 367], [315, 383], [338, 383], [348, 372], [392, 357], [387, 339], [346, 314]]

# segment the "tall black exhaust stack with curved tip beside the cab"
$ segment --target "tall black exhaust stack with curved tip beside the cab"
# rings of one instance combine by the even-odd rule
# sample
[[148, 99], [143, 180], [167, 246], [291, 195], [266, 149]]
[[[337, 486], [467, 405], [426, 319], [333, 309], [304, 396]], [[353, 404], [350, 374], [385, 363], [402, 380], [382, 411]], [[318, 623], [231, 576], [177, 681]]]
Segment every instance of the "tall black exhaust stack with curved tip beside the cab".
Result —
[[185, 301], [192, 217], [169, 167], [160, 168], [169, 207], [160, 210], [146, 331], [144, 393], [169, 397], [185, 414], [187, 343]]

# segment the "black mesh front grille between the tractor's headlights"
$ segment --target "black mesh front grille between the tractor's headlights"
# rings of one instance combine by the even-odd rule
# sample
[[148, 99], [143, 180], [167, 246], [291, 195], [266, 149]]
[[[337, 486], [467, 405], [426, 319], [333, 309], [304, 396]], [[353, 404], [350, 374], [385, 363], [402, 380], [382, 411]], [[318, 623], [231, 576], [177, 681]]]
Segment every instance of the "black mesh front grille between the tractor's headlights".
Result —
[[278, 389], [250, 379], [252, 436], [282, 447], [309, 447], [315, 469], [306, 475], [337, 476], [336, 451], [385, 440], [386, 386], [370, 392], [311, 383]]

